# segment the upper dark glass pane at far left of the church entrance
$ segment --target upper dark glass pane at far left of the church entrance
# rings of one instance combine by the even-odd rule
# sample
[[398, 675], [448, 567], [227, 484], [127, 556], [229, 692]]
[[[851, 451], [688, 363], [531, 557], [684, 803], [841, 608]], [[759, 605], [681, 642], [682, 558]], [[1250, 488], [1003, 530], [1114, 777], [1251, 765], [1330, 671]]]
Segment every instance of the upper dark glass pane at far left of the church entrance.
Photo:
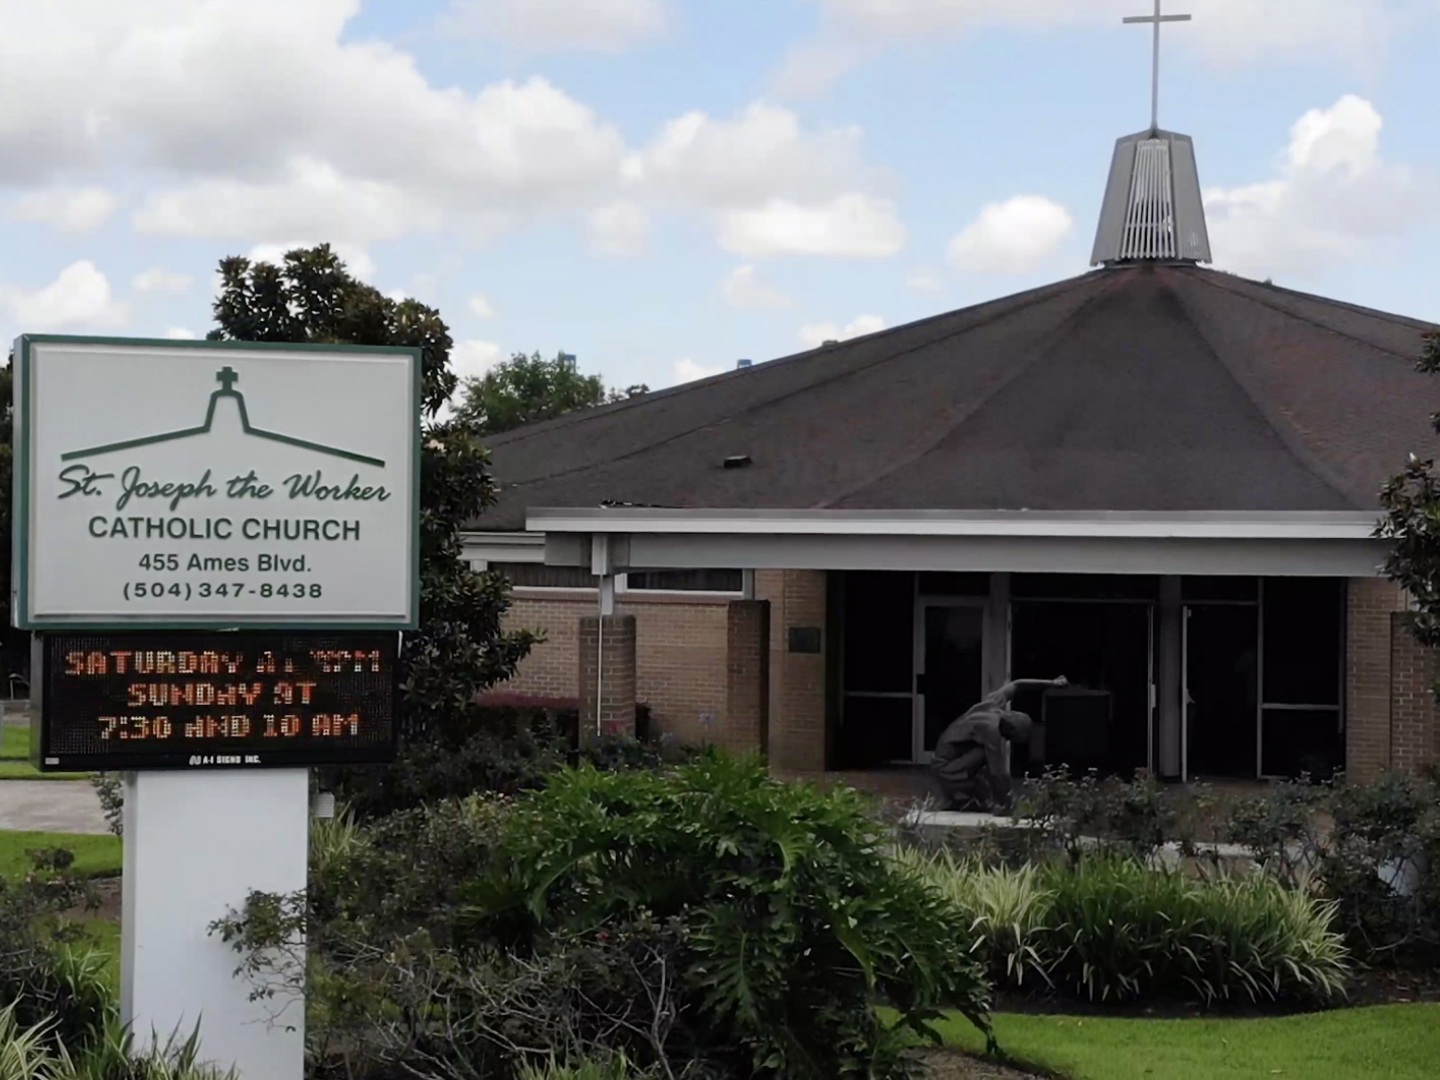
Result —
[[913, 684], [914, 577], [845, 575], [845, 690], [907, 694]]

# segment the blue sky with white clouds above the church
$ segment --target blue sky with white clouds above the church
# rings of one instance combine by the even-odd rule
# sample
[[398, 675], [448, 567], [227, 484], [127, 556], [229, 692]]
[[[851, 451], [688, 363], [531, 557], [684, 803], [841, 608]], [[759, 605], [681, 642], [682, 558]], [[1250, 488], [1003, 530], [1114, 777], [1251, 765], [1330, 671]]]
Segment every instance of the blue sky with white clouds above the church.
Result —
[[[0, 321], [334, 242], [456, 364], [668, 386], [1086, 269], [1151, 0], [0, 0]], [[1166, 0], [1217, 266], [1440, 321], [1440, 0]]]

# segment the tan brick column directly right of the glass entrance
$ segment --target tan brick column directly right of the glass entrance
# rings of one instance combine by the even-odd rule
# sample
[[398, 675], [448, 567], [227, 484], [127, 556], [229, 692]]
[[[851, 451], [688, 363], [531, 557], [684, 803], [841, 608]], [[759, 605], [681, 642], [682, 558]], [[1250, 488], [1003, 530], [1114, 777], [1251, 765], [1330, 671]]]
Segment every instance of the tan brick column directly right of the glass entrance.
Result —
[[1345, 772], [1368, 782], [1390, 768], [1391, 619], [1400, 589], [1352, 577], [1345, 612]]

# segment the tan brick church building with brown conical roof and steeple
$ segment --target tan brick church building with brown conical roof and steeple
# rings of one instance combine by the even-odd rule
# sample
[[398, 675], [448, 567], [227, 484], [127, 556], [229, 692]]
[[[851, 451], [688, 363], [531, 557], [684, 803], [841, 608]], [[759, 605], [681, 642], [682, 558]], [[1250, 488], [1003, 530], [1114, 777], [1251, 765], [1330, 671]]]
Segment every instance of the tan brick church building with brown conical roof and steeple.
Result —
[[1436, 763], [1372, 539], [1434, 445], [1436, 327], [1210, 259], [1191, 140], [1155, 125], [1083, 276], [498, 436], [468, 553], [547, 635], [501, 690], [877, 786], [1057, 674], [1015, 770]]

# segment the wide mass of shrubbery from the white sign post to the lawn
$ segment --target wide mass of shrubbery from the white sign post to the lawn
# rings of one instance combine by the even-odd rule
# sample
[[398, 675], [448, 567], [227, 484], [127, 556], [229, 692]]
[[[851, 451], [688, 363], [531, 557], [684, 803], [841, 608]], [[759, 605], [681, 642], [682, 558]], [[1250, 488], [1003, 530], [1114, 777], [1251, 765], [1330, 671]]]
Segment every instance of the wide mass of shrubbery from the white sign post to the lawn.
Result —
[[899, 1077], [942, 1008], [986, 1025], [988, 986], [884, 838], [854, 792], [759, 765], [582, 768], [327, 827], [308, 897], [252, 894], [215, 929], [276, 1012], [308, 976], [315, 1077], [611, 1053], [693, 1080]]

